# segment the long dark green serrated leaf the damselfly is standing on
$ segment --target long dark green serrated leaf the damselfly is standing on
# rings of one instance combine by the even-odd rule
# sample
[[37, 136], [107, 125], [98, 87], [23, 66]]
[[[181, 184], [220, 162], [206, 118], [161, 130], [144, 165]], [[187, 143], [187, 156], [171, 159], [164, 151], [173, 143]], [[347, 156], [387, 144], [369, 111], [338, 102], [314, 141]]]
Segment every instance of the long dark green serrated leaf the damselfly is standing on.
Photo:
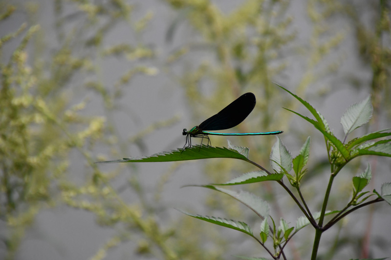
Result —
[[163, 162], [163, 161], [181, 161], [181, 160], [200, 160], [200, 159], [211, 159], [211, 158], [233, 158], [240, 160], [247, 160], [247, 158], [237, 151], [221, 148], [212, 147], [206, 145], [194, 145], [185, 149], [172, 150], [171, 152], [163, 152], [154, 154], [149, 157], [141, 158], [124, 158], [121, 160], [108, 160], [98, 161], [96, 163], [116, 163], [116, 162]]

